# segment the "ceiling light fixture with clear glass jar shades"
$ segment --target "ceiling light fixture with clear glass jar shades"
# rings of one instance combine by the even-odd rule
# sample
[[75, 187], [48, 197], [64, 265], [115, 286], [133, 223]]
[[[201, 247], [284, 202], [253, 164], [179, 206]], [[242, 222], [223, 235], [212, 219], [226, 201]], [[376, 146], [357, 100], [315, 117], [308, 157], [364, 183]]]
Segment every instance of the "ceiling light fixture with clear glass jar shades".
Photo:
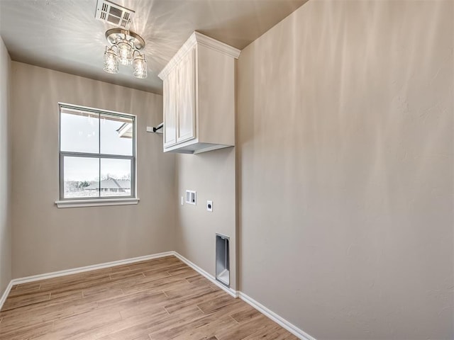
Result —
[[133, 65], [133, 75], [136, 78], [147, 77], [147, 61], [140, 51], [145, 47], [145, 40], [131, 30], [112, 28], [106, 31], [107, 42], [104, 52], [104, 71], [118, 73], [118, 64]]

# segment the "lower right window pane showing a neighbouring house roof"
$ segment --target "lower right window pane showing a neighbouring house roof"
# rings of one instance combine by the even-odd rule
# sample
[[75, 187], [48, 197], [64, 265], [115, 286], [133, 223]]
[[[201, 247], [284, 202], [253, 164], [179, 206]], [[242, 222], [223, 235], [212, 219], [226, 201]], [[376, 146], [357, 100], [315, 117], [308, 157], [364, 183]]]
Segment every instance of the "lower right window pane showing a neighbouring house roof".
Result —
[[131, 196], [131, 159], [101, 159], [101, 196]]

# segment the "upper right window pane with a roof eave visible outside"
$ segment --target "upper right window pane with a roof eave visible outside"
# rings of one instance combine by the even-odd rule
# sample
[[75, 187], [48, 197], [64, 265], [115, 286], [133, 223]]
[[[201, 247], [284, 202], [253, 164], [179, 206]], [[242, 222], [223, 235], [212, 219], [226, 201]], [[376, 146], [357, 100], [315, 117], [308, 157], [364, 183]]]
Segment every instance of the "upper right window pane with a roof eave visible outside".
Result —
[[101, 115], [101, 154], [133, 155], [132, 118]]

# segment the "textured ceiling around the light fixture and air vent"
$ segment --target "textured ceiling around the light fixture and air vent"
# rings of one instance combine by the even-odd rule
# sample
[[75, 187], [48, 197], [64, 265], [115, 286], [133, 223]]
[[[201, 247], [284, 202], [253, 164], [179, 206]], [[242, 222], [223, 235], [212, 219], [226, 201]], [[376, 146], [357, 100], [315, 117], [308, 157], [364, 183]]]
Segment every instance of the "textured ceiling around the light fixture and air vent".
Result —
[[0, 35], [12, 60], [162, 94], [157, 77], [194, 30], [240, 50], [307, 0], [112, 0], [135, 11], [130, 30], [146, 42], [148, 78], [132, 67], [103, 71], [96, 0], [0, 0]]

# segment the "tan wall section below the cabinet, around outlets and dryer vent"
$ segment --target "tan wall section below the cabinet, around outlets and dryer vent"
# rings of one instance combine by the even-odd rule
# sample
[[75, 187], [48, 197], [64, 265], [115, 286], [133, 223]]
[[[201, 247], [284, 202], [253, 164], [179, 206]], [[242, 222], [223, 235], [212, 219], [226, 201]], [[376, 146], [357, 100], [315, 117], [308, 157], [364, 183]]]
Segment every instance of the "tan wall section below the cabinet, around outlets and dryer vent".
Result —
[[[230, 237], [231, 287], [236, 285], [235, 149], [177, 155], [177, 251], [215, 276], [216, 232]], [[197, 192], [197, 204], [180, 205], [186, 190]], [[206, 211], [213, 200], [213, 212]]]

